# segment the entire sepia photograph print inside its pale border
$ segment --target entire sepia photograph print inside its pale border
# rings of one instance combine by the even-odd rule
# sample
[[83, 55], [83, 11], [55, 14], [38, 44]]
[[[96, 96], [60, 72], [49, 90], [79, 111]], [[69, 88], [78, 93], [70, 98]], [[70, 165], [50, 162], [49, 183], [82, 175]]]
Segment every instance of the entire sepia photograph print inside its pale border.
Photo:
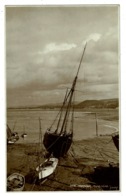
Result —
[[120, 6], [6, 5], [6, 191], [120, 191]]

